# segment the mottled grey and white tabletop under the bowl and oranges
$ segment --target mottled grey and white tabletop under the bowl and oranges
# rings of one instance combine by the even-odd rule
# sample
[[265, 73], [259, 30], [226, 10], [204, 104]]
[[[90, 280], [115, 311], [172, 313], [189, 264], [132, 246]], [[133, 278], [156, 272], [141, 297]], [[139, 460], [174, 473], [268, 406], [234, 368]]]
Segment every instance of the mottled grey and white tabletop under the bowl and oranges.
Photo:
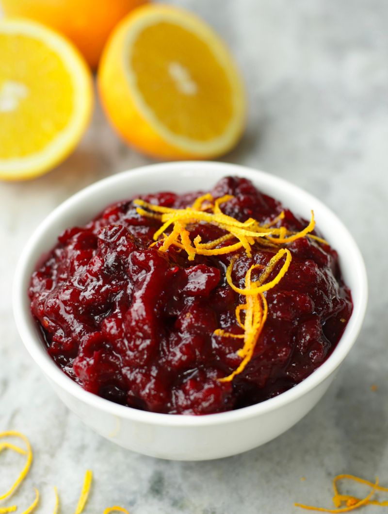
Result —
[[[48, 175], [0, 184], [0, 429], [25, 432], [35, 460], [15, 495], [39, 512], [75, 509], [83, 474], [95, 482], [85, 513], [119, 504], [131, 514], [288, 514], [294, 501], [330, 505], [332, 476], [388, 484], [386, 204], [388, 8], [385, 0], [176, 0], [212, 24], [245, 76], [249, 124], [224, 160], [285, 177], [319, 196], [353, 232], [369, 274], [363, 330], [319, 405], [253, 451], [205, 463], [159, 461], [91, 432], [52, 392], [16, 332], [10, 290], [34, 227], [91, 182], [149, 162], [128, 149], [97, 105], [78, 150]], [[372, 384], [377, 391], [372, 391]], [[238, 437], [238, 434], [236, 434]], [[0, 457], [0, 489], [22, 457]], [[306, 480], [302, 481], [301, 478]], [[374, 512], [366, 507], [363, 512]]]

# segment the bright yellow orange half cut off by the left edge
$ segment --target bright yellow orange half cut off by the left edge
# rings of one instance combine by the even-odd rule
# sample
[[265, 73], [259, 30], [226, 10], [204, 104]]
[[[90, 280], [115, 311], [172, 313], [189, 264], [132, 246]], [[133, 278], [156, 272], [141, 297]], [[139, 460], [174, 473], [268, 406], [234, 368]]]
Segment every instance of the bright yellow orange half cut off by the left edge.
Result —
[[35, 22], [0, 21], [0, 178], [33, 178], [78, 144], [93, 105], [78, 50]]

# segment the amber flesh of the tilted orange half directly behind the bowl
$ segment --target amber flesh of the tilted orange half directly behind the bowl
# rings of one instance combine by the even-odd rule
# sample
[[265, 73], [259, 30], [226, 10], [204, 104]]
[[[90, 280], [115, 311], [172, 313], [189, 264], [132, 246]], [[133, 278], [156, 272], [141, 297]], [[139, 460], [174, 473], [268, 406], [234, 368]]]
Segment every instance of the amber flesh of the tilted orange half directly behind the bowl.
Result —
[[130, 67], [144, 102], [169, 131], [199, 141], [225, 131], [233, 117], [231, 84], [193, 32], [171, 22], [146, 27]]

